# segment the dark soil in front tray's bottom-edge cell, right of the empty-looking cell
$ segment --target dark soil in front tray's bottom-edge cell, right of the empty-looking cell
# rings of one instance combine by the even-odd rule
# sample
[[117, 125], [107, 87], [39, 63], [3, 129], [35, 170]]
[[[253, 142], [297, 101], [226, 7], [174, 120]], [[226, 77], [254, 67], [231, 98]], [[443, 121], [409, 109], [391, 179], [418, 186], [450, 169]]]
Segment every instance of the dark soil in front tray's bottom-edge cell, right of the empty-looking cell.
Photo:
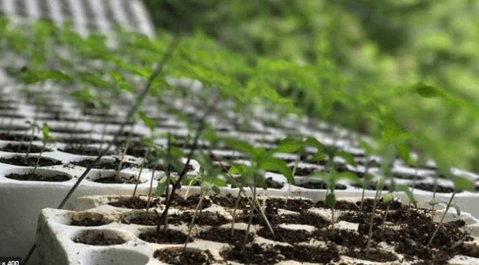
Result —
[[158, 249], [153, 253], [153, 257], [168, 264], [205, 265], [214, 263], [213, 256], [208, 250], [184, 252], [183, 249]]

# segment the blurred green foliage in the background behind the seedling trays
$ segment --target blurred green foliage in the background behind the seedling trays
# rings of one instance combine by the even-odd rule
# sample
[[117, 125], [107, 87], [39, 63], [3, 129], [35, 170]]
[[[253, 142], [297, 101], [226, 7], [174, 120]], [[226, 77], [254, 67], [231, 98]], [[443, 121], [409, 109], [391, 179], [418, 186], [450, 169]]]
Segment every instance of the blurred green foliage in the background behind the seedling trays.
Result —
[[[201, 29], [251, 64], [261, 64], [256, 55], [274, 58], [278, 71], [269, 85], [293, 96], [308, 114], [371, 135], [380, 133], [374, 115], [393, 115], [411, 133], [447, 145], [445, 156], [454, 165], [479, 172], [475, 111], [409, 93], [421, 82], [478, 101], [478, 1], [145, 3], [159, 29]], [[286, 66], [293, 70], [282, 71]]]

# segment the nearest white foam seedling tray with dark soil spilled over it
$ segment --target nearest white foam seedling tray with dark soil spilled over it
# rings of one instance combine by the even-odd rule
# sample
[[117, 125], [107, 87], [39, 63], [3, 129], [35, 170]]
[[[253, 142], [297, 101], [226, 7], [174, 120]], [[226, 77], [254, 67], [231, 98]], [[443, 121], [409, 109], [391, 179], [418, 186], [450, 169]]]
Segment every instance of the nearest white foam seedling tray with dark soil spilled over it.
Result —
[[[371, 200], [359, 210], [360, 197], [340, 197], [331, 211], [323, 201], [296, 197], [262, 197], [260, 204], [271, 223], [255, 214], [246, 249], [242, 249], [250, 207], [243, 197], [236, 211], [231, 234], [234, 199], [232, 194], [207, 195], [191, 232], [191, 242], [182, 254], [188, 227], [199, 195], [186, 199], [179, 194], [169, 211], [167, 236], [156, 237], [158, 214], [164, 197], [155, 201], [146, 215], [145, 208], [129, 207], [131, 197], [93, 196], [79, 200], [95, 201], [97, 207], [84, 211], [44, 209], [38, 223], [38, 253], [44, 264], [478, 264], [479, 221], [470, 214], [460, 217], [448, 212], [444, 227], [430, 249], [424, 250], [428, 235], [419, 227], [430, 225], [430, 212], [411, 209], [395, 200], [383, 229], [375, 227], [369, 255], [366, 217]], [[137, 198], [138, 199], [138, 198]], [[263, 201], [265, 199], [265, 201]], [[147, 197], [139, 200], [147, 201]], [[126, 203], [125, 203], [126, 201]], [[113, 206], [116, 205], [116, 206]], [[384, 214], [384, 204], [378, 205]], [[436, 212], [439, 216], [441, 211]], [[410, 217], [409, 223], [398, 224]], [[424, 219], [424, 220], [422, 220]], [[424, 221], [424, 223], [423, 223]], [[429, 225], [429, 226], [428, 226]], [[408, 233], [406, 233], [408, 232]], [[428, 231], [430, 232], [430, 231]], [[404, 238], [403, 238], [404, 236]], [[379, 237], [379, 238], [378, 238]], [[186, 260], [190, 259], [190, 260]]]

